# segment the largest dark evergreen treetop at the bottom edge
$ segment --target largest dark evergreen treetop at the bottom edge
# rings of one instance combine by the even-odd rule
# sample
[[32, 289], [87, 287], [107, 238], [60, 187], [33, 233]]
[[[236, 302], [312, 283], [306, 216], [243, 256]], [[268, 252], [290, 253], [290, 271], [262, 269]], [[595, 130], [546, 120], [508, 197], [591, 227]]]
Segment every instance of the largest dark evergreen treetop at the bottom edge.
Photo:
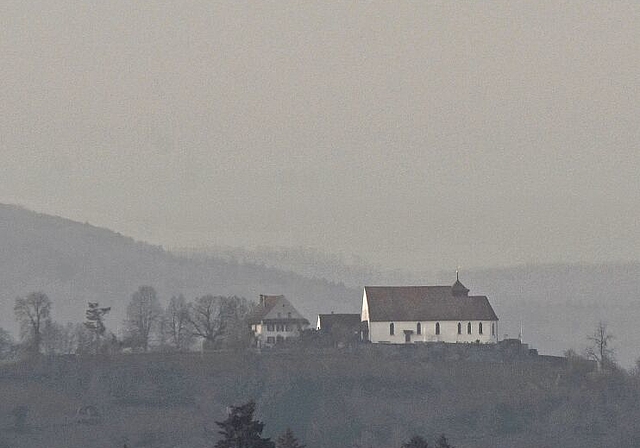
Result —
[[262, 437], [264, 423], [253, 419], [256, 404], [253, 401], [241, 406], [231, 406], [229, 416], [216, 422], [218, 431], [224, 437], [215, 448], [275, 448], [275, 443]]

